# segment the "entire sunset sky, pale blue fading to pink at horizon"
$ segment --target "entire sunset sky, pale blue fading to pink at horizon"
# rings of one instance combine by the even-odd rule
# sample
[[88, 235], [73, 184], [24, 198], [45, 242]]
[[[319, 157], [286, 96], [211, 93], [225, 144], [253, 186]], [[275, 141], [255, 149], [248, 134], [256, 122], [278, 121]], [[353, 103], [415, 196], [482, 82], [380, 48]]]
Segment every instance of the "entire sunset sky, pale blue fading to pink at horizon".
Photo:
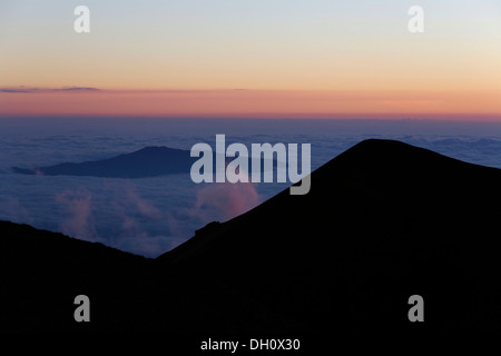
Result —
[[4, 0], [0, 117], [501, 121], [500, 43], [499, 0]]

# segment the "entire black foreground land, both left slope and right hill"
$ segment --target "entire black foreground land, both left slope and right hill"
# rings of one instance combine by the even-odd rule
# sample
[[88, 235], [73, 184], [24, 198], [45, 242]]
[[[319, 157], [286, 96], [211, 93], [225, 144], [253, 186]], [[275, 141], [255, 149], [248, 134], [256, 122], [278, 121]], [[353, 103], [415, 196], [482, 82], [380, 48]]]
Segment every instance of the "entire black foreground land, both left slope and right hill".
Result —
[[[0, 224], [2, 330], [501, 332], [501, 171], [367, 140], [156, 260]], [[22, 240], [19, 240], [22, 238]], [[73, 322], [87, 294], [92, 320]], [[407, 319], [411, 295], [424, 323]]]

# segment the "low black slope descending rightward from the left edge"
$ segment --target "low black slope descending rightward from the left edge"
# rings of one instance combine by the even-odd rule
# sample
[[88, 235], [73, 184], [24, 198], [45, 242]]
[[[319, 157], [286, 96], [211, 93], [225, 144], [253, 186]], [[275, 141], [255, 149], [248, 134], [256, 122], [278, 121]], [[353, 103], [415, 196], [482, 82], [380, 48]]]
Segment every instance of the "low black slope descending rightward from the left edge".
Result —
[[[0, 280], [0, 333], [297, 330], [218, 280], [186, 279], [151, 259], [7, 221]], [[78, 295], [90, 299], [90, 323], [73, 319]]]

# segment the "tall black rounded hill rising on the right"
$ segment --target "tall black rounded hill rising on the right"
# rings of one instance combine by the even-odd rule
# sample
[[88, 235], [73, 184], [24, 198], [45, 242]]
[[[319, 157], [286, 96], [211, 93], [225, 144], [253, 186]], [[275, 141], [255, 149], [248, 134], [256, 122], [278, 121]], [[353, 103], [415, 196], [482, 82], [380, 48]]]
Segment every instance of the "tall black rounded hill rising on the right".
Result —
[[[485, 328], [501, 316], [501, 171], [367, 140], [158, 258], [325, 330]], [[203, 266], [203, 268], [200, 268]], [[422, 295], [426, 323], [407, 320]]]

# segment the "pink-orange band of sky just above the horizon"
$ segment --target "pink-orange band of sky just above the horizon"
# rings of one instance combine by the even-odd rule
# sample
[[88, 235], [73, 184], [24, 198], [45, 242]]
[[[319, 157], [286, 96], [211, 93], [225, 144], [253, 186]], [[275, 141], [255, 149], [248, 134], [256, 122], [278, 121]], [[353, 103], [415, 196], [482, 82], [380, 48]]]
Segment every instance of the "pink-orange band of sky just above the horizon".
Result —
[[0, 92], [3, 116], [501, 118], [492, 92], [38, 90]]

